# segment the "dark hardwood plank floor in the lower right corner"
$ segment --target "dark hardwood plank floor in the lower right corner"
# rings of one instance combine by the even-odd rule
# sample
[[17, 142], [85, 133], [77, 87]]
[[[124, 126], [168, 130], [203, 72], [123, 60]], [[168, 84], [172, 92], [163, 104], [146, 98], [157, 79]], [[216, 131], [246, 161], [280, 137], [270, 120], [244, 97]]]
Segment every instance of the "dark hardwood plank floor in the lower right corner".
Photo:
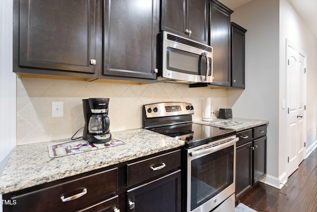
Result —
[[281, 190], [259, 183], [239, 202], [258, 212], [317, 212], [317, 153], [313, 151]]

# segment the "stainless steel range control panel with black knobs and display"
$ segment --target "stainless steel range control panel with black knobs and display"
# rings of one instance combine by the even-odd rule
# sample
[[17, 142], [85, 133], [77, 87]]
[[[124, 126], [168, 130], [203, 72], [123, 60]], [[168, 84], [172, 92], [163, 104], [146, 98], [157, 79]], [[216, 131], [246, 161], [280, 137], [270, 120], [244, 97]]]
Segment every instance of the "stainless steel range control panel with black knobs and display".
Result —
[[143, 110], [147, 118], [179, 116], [194, 114], [194, 107], [186, 102], [161, 102], [143, 105]]

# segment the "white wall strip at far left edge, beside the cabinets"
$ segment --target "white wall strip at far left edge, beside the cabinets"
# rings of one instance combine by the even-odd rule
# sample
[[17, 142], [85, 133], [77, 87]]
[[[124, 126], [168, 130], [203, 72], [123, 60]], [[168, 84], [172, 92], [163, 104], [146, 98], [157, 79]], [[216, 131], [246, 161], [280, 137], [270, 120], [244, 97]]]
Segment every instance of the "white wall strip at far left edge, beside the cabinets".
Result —
[[[12, 72], [12, 1], [0, 1], [0, 173], [15, 146], [16, 79]], [[0, 195], [0, 201], [2, 195]], [[2, 202], [2, 201], [1, 201]], [[2, 205], [0, 206], [2, 212]]]

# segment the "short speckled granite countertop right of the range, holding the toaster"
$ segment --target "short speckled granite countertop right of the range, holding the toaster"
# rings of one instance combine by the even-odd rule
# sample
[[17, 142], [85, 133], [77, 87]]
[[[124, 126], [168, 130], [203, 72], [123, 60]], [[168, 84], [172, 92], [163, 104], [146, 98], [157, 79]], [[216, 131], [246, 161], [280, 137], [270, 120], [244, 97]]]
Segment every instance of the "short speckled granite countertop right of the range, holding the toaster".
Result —
[[[237, 125], [233, 125], [233, 126], [221, 127], [223, 129], [235, 130], [237, 132], [268, 124], [268, 121], [266, 121], [266, 120], [244, 119], [244, 118], [235, 118], [235, 117], [233, 117], [232, 119], [214, 119], [214, 121], [242, 122], [241, 124], [237, 124]], [[218, 127], [218, 126], [212, 124], [212, 122], [194, 121], [194, 123]]]

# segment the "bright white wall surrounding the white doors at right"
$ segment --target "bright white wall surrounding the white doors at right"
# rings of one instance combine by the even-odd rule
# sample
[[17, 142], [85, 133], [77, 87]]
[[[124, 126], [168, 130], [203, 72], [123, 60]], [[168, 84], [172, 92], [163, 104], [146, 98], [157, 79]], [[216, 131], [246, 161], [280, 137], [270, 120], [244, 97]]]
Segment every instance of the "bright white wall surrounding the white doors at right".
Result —
[[[288, 39], [298, 49], [307, 54], [307, 110], [306, 135], [307, 154], [316, 147], [317, 142], [317, 39], [308, 26], [297, 14], [288, 0], [280, 0], [280, 99], [285, 99], [285, 70], [286, 70], [286, 42]], [[286, 112], [279, 109], [280, 117], [280, 146], [285, 149]], [[286, 150], [285, 150], [286, 151]], [[286, 156], [280, 156], [280, 175], [286, 170]]]

